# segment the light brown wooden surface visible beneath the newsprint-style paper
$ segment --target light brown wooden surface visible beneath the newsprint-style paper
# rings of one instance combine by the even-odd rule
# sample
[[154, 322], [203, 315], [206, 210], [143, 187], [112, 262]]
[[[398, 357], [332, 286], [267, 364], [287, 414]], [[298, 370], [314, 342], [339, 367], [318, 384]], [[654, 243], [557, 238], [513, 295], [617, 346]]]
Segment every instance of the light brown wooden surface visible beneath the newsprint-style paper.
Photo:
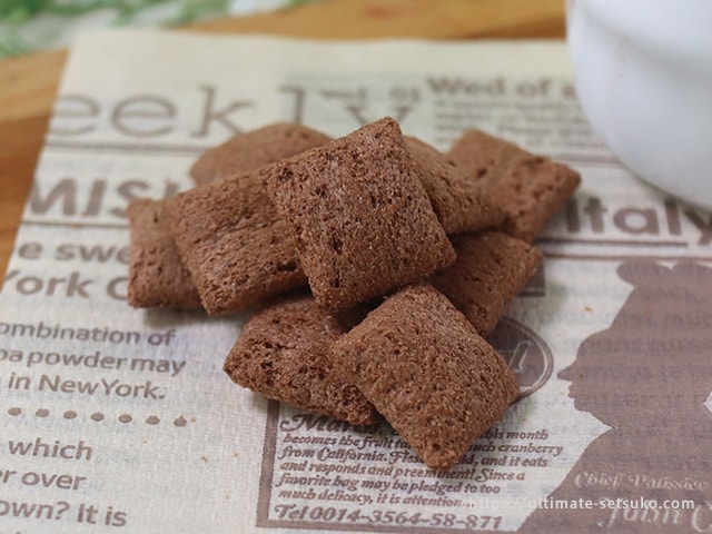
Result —
[[[565, 0], [323, 0], [185, 27], [314, 39], [564, 38]], [[66, 50], [0, 60], [0, 284], [42, 148]]]

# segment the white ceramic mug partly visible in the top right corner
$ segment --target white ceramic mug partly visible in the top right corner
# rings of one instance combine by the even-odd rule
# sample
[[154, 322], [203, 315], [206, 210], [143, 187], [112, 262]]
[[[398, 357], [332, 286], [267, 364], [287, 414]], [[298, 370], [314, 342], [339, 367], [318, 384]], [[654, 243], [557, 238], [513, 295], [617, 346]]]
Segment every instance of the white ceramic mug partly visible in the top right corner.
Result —
[[633, 172], [712, 209], [712, 1], [567, 0], [576, 92]]

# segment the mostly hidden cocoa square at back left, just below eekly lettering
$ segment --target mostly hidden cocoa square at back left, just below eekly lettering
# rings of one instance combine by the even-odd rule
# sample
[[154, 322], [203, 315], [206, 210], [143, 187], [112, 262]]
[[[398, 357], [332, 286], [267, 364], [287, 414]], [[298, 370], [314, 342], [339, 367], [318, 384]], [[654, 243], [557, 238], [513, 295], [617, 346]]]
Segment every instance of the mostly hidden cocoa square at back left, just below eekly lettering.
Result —
[[196, 184], [207, 184], [257, 169], [329, 141], [320, 131], [294, 122], [276, 122], [238, 134], [206, 150], [192, 165]]

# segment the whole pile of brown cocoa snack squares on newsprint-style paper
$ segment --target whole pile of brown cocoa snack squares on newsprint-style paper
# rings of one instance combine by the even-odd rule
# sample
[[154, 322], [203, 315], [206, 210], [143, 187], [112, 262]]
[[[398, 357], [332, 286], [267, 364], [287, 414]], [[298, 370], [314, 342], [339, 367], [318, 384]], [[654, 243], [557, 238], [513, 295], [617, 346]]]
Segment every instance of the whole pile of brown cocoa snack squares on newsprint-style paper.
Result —
[[475, 130], [443, 154], [386, 117], [338, 139], [270, 125], [191, 176], [129, 206], [129, 304], [254, 308], [225, 360], [235, 383], [384, 417], [441, 469], [518, 396], [485, 337], [540, 267], [532, 243], [574, 170]]

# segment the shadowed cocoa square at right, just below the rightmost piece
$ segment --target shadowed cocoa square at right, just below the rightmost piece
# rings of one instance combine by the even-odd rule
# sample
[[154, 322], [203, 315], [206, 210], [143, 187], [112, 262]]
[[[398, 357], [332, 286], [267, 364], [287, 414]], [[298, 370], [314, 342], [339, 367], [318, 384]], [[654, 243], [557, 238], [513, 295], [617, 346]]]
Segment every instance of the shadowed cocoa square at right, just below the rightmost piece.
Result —
[[542, 253], [502, 231], [451, 236], [457, 260], [431, 283], [486, 337], [505, 308], [534, 276]]

